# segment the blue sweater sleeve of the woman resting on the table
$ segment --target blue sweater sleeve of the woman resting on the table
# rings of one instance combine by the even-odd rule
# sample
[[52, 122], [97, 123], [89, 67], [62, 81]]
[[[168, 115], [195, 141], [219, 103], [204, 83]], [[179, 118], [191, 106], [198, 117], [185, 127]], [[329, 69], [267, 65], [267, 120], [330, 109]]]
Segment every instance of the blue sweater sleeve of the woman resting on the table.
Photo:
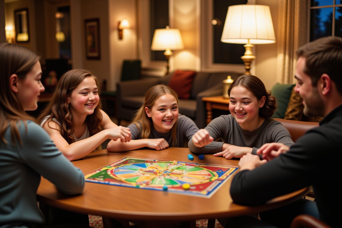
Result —
[[20, 127], [22, 145], [18, 152], [23, 162], [52, 182], [65, 194], [80, 194], [84, 188], [84, 175], [61, 151], [57, 149], [49, 134], [34, 122]]

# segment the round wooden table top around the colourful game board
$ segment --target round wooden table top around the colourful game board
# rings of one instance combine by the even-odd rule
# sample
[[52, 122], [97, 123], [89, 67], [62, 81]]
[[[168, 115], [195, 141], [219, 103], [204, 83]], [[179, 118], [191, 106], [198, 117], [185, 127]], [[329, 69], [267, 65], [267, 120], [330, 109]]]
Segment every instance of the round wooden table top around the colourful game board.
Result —
[[[73, 164], [79, 167], [84, 175], [126, 157], [230, 166], [237, 166], [238, 164], [238, 160], [227, 160], [223, 157], [214, 157], [211, 154], [205, 155], [203, 160], [199, 160], [198, 156], [193, 154], [194, 160], [189, 161], [188, 154], [191, 154], [188, 148], [168, 148], [161, 151], [141, 149], [127, 152], [97, 150], [81, 160], [73, 161]], [[196, 219], [203, 218], [214, 219], [253, 214], [293, 202], [304, 197], [308, 191], [308, 188], [301, 189], [277, 197], [260, 206], [242, 206], [233, 203], [229, 194], [231, 180], [232, 177], [210, 198], [201, 198], [170, 193], [168, 191], [129, 188], [91, 182], [86, 182], [82, 195], [67, 196], [59, 192], [48, 180], [42, 178], [38, 188], [38, 201], [84, 214], [151, 223], [152, 221], [195, 221]]]

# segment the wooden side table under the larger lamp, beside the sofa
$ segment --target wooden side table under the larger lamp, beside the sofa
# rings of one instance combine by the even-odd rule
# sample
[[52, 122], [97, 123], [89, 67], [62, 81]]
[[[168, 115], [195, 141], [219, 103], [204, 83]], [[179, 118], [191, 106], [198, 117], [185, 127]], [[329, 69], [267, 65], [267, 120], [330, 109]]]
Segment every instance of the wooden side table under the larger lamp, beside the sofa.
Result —
[[229, 99], [223, 98], [223, 96], [202, 97], [202, 100], [206, 102], [207, 125], [213, 119], [213, 109], [229, 111]]

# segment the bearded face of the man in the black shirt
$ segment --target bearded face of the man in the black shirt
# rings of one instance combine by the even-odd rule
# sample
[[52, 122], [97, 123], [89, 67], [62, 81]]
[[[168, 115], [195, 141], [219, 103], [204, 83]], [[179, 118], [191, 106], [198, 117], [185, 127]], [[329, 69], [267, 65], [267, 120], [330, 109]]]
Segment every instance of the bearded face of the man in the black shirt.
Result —
[[299, 57], [296, 65], [295, 78], [297, 83], [294, 91], [303, 98], [303, 113], [305, 116], [324, 116], [324, 102], [319, 96], [319, 91], [312, 86], [310, 76], [303, 72], [305, 58]]

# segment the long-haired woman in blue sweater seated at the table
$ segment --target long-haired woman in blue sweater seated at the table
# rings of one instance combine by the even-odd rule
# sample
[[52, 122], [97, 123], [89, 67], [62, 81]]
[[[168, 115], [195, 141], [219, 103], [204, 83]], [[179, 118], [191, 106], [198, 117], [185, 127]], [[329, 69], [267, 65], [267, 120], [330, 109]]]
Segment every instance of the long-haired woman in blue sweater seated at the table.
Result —
[[[41, 83], [39, 56], [23, 46], [0, 44], [0, 227], [40, 227], [41, 176], [67, 195], [81, 194], [84, 176], [25, 111], [35, 110]], [[76, 227], [69, 224], [69, 227]], [[63, 225], [68, 227], [68, 225]]]

